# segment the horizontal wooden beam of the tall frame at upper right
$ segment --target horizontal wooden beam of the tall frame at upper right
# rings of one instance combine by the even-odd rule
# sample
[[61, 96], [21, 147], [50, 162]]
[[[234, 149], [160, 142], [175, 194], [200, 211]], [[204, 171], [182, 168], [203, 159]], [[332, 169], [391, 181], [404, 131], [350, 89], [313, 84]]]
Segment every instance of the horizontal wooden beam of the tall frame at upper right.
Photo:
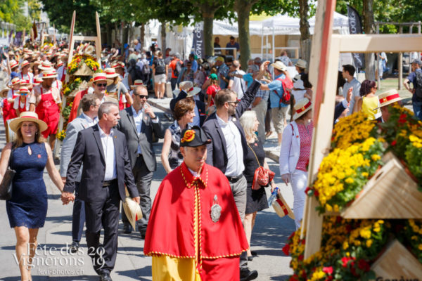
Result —
[[341, 39], [341, 53], [422, 51], [422, 34], [333, 34], [333, 38]]

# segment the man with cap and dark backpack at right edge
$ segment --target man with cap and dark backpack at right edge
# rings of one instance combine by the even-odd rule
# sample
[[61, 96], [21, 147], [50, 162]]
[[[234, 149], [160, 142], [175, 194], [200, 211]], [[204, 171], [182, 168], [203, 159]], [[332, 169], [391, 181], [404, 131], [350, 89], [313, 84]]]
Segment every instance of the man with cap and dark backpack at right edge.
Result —
[[[422, 62], [421, 60], [414, 60], [411, 63], [411, 74], [404, 79], [403, 85], [407, 91], [412, 93], [411, 102], [414, 109], [414, 114], [419, 120], [422, 120]], [[413, 84], [413, 89], [410, 89], [410, 83]]]

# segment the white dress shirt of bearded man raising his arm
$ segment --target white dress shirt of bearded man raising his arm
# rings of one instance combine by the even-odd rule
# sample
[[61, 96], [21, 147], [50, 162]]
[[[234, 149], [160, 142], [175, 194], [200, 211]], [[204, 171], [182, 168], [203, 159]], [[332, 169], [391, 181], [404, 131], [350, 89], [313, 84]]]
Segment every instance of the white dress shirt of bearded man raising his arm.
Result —
[[226, 139], [227, 167], [224, 174], [226, 176], [239, 176], [245, 170], [241, 132], [239, 132], [236, 124], [231, 121], [231, 117], [229, 117], [229, 122], [224, 122], [218, 115], [216, 117]]

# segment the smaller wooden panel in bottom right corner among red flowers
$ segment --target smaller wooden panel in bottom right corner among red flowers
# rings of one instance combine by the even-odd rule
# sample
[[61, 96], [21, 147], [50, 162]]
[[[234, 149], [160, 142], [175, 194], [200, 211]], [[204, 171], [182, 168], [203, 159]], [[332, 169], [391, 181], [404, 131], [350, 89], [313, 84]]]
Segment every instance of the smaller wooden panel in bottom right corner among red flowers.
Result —
[[422, 277], [422, 263], [397, 240], [388, 244], [371, 269], [376, 280], [418, 280]]

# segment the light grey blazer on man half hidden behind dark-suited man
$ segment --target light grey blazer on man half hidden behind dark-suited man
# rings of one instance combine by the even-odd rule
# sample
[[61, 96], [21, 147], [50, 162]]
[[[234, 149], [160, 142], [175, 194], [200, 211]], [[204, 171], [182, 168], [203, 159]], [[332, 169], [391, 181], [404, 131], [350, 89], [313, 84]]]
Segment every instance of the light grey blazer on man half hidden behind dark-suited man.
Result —
[[[72, 156], [73, 148], [77, 139], [77, 133], [89, 127], [87, 119], [83, 115], [79, 115], [68, 124], [66, 128], [66, 137], [63, 141], [61, 155], [60, 155], [60, 176], [65, 177], [68, 173], [68, 166], [70, 162], [70, 156]], [[79, 183], [82, 176], [82, 167], [79, 169], [76, 181]]]

